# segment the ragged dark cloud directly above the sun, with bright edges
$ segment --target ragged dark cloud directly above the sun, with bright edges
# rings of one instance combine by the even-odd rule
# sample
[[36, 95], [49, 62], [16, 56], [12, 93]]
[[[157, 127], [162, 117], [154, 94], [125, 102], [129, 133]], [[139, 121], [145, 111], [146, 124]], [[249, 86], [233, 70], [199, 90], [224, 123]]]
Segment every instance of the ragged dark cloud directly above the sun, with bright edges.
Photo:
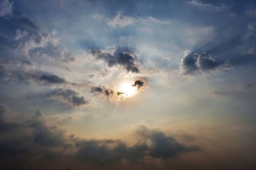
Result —
[[108, 50], [94, 49], [92, 50], [92, 54], [97, 57], [97, 59], [106, 61], [109, 67], [120, 65], [132, 73], [140, 72], [134, 54], [131, 52], [122, 52], [115, 49], [115, 51], [111, 53]]

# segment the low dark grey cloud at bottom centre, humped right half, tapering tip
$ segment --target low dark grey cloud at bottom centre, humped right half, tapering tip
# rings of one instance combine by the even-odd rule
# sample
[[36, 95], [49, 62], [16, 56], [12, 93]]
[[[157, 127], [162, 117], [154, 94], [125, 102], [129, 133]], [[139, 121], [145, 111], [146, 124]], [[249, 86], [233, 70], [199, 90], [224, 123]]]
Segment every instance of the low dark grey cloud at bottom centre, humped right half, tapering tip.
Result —
[[109, 164], [118, 160], [142, 160], [143, 157], [168, 159], [182, 152], [198, 151], [198, 146], [183, 146], [172, 136], [161, 131], [148, 129], [141, 125], [134, 133], [142, 141], [128, 146], [120, 140], [79, 140], [76, 141], [79, 159], [90, 160], [100, 164]]

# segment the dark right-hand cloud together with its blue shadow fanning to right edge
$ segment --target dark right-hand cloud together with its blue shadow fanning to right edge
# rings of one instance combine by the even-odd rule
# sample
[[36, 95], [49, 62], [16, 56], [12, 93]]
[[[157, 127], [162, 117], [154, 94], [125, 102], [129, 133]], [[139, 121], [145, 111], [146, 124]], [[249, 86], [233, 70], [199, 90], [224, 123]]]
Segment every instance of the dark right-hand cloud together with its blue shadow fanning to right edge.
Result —
[[[209, 72], [223, 67], [255, 66], [255, 23], [230, 37], [213, 39], [184, 56], [180, 71], [184, 74]], [[203, 53], [202, 53], [203, 52]]]

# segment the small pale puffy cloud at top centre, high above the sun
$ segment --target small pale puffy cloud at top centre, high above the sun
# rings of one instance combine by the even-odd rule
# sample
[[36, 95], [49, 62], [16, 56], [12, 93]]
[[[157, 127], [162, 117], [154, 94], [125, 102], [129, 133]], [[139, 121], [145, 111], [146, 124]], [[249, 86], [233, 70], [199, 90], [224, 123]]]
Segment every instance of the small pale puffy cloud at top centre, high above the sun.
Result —
[[116, 16], [108, 21], [108, 26], [112, 28], [123, 28], [134, 23], [134, 18], [124, 15], [121, 11], [116, 13]]

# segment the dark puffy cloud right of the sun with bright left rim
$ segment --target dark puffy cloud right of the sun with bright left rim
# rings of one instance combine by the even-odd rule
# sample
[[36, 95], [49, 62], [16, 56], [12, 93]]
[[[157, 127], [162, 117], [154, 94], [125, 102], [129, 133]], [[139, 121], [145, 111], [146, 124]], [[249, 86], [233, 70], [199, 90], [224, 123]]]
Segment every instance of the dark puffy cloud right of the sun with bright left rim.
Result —
[[227, 62], [216, 60], [207, 53], [189, 53], [180, 62], [180, 71], [183, 74], [203, 73], [227, 66]]

